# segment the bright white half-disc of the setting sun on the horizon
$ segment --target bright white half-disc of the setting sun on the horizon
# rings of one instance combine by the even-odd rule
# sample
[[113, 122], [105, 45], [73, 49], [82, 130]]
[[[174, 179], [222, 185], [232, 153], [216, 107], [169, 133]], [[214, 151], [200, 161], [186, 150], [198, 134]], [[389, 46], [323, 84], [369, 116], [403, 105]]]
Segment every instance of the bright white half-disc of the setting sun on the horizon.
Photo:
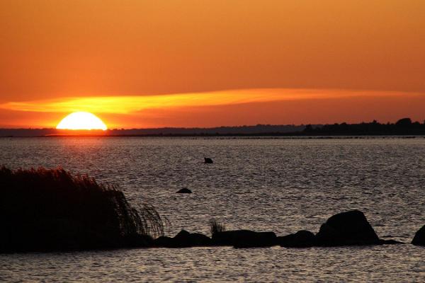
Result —
[[103, 129], [108, 127], [96, 115], [90, 112], [73, 112], [64, 117], [56, 129]]

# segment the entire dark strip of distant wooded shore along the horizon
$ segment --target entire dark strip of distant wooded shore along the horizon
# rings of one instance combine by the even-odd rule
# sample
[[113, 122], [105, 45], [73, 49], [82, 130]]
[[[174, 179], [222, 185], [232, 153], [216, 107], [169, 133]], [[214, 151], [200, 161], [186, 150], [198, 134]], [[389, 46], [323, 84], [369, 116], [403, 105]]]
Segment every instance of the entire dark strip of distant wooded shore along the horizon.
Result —
[[78, 131], [60, 129], [0, 129], [0, 137], [57, 137], [91, 135], [96, 137], [220, 137], [220, 136], [356, 136], [356, 135], [421, 135], [425, 134], [425, 122], [412, 122], [403, 118], [395, 123], [332, 125], [254, 125], [213, 128], [154, 128], [108, 129], [106, 131]]

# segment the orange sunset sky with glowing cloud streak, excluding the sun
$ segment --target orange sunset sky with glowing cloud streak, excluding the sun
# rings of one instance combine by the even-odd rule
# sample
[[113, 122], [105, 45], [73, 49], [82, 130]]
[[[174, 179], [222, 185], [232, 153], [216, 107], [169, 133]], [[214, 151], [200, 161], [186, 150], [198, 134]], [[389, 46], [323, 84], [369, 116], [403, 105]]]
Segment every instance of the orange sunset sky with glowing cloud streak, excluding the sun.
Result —
[[0, 1], [0, 127], [425, 119], [425, 1]]

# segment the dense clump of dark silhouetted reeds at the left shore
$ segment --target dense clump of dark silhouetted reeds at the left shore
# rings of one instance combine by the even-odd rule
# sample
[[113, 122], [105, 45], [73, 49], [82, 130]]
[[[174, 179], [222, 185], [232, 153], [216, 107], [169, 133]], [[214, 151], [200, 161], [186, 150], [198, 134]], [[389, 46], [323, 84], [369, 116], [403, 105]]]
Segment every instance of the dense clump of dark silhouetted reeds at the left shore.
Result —
[[164, 233], [154, 207], [136, 210], [114, 185], [62, 168], [0, 167], [0, 252], [148, 246]]

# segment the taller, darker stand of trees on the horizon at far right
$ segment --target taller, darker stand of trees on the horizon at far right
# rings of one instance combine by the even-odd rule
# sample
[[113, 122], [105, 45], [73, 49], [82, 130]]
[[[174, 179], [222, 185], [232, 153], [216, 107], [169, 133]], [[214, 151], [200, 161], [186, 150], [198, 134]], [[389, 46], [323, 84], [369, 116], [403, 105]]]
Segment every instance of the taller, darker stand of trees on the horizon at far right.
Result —
[[314, 127], [305, 126], [302, 135], [399, 135], [399, 134], [425, 134], [425, 122], [412, 122], [410, 118], [403, 118], [395, 123], [380, 124], [361, 122], [359, 124], [333, 124]]

